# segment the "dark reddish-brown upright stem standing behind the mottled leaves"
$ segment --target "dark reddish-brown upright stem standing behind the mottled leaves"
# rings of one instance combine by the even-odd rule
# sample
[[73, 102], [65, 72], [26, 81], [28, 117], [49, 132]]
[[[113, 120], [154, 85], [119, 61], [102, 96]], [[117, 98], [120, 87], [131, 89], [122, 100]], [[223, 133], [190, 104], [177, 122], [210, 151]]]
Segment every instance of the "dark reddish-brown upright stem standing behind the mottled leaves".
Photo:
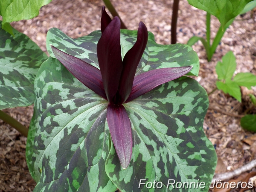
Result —
[[178, 10], [179, 10], [179, 1], [173, 1], [172, 8], [172, 26], [171, 26], [171, 44], [176, 44], [177, 42], [177, 18], [178, 18]]

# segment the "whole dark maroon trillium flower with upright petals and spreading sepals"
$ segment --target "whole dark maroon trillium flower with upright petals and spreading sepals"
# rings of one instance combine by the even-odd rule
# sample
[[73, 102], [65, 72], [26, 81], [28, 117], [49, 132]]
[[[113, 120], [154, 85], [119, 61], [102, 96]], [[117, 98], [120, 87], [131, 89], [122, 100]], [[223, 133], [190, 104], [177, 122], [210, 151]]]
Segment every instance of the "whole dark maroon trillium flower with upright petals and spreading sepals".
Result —
[[99, 96], [108, 100], [107, 122], [111, 138], [121, 166], [126, 169], [131, 161], [132, 134], [131, 122], [123, 103], [147, 93], [154, 87], [177, 79], [188, 73], [192, 66], [150, 70], [135, 76], [138, 64], [148, 41], [148, 30], [140, 22], [137, 41], [122, 59], [120, 44], [120, 20], [109, 17], [102, 8], [102, 36], [97, 44], [99, 69], [52, 47], [56, 58], [81, 83]]

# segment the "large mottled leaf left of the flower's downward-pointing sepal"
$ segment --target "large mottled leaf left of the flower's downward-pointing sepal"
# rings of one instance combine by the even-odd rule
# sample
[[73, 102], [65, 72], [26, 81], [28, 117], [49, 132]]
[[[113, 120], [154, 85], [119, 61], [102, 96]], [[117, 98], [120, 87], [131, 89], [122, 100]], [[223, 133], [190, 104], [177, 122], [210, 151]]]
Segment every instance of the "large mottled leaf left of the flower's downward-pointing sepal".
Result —
[[26, 146], [35, 191], [115, 191], [105, 173], [108, 102], [51, 57], [38, 70], [35, 94]]

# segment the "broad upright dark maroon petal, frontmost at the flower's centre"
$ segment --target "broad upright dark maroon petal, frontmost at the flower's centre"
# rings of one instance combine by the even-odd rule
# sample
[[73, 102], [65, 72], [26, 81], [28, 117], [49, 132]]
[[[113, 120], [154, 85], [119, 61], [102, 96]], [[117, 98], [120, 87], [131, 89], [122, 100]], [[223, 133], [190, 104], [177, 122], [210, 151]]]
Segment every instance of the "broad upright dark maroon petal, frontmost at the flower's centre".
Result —
[[114, 17], [97, 44], [99, 68], [108, 101], [114, 103], [122, 73], [120, 20]]

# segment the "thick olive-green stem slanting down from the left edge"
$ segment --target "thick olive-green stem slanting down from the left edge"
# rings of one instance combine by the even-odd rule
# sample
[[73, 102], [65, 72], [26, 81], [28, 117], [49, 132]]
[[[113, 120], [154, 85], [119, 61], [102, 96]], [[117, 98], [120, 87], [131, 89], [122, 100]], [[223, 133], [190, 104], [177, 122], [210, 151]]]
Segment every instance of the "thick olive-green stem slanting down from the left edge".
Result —
[[28, 137], [29, 129], [26, 128], [24, 125], [22, 125], [20, 122], [18, 122], [16, 119], [12, 118], [11, 116], [9, 116], [8, 114], [4, 113], [1, 110], [0, 110], [0, 119], [2, 119], [4, 122], [11, 125], [17, 131], [23, 134], [25, 137]]

